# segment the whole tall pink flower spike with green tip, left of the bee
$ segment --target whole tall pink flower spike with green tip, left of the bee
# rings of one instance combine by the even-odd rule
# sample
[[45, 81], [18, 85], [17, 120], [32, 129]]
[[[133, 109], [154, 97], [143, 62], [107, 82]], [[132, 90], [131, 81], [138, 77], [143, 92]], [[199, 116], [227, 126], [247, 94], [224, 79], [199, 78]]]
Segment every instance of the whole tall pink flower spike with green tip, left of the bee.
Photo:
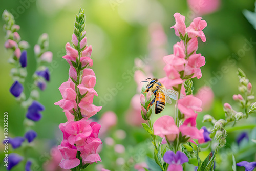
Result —
[[102, 106], [93, 104], [93, 98], [98, 94], [94, 90], [95, 73], [87, 68], [93, 64], [90, 58], [92, 46], [87, 46], [84, 23], [84, 11], [80, 9], [72, 35], [73, 47], [67, 43], [67, 54], [63, 56], [70, 64], [69, 79], [59, 87], [63, 99], [54, 103], [66, 112], [68, 119], [68, 122], [59, 125], [63, 133], [63, 140], [58, 146], [63, 156], [59, 166], [64, 169], [80, 170], [101, 161], [97, 153], [97, 148], [102, 143], [98, 138], [101, 125], [88, 120], [99, 112]]

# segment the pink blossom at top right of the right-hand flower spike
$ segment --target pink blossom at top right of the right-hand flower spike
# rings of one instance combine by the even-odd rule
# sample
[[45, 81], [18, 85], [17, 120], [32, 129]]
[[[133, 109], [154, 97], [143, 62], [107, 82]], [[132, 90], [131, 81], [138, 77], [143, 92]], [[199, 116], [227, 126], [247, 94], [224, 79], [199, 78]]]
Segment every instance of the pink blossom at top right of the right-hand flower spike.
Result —
[[193, 22], [186, 28], [189, 38], [200, 37], [203, 42], [206, 41], [204, 32], [202, 31], [207, 26], [205, 20], [202, 17], [197, 17]]

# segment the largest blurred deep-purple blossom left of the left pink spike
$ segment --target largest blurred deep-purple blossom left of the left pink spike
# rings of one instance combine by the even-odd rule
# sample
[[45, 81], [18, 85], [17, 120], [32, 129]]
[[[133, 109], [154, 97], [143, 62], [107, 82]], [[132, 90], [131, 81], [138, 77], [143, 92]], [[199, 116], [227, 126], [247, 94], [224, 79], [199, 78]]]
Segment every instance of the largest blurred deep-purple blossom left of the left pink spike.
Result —
[[44, 110], [45, 110], [45, 107], [43, 105], [41, 105], [37, 101], [33, 101], [32, 104], [28, 108], [26, 117], [33, 121], [39, 121], [42, 117], [40, 111], [44, 111]]

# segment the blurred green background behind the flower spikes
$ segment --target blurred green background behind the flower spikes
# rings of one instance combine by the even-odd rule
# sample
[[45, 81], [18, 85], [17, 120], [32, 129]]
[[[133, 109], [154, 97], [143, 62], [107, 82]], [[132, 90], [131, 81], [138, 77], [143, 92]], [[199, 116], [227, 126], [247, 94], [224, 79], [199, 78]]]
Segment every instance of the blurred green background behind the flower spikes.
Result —
[[[28, 2], [25, 3], [24, 2]], [[113, 4], [113, 2], [115, 2]], [[215, 101], [212, 110], [207, 114], [212, 114], [216, 119], [224, 117], [222, 104], [224, 102], [234, 103], [232, 95], [238, 94], [237, 68], [244, 70], [252, 86], [256, 86], [256, 32], [253, 26], [244, 17], [242, 11], [247, 9], [254, 11], [254, 0], [221, 1], [218, 11], [202, 16], [208, 26], [203, 30], [206, 35], [206, 42], [199, 40], [197, 53], [205, 56], [206, 65], [202, 69], [202, 78], [194, 79], [195, 91], [210, 81], [217, 81], [212, 84], [215, 94]], [[23, 8], [21, 8], [23, 7]], [[169, 29], [175, 24], [173, 14], [179, 12], [186, 17], [188, 26], [192, 19], [188, 16], [188, 5], [185, 0], [12, 0], [0, 2], [0, 13], [4, 9], [9, 10], [15, 16], [16, 24], [20, 25], [18, 33], [22, 40], [30, 44], [28, 49], [28, 77], [26, 83], [31, 82], [31, 76], [35, 71], [35, 59], [33, 46], [37, 43], [39, 35], [48, 33], [49, 51], [53, 52], [54, 64], [50, 65], [51, 81], [47, 84], [47, 89], [40, 93], [40, 103], [46, 107], [42, 112], [42, 119], [35, 124], [34, 130], [38, 133], [38, 141], [41, 145], [41, 152], [48, 152], [50, 147], [57, 143], [56, 137], [61, 137], [58, 131], [59, 123], [66, 122], [66, 117], [62, 109], [53, 103], [61, 99], [58, 87], [62, 82], [67, 81], [69, 65], [61, 57], [65, 55], [65, 45], [71, 42], [74, 28], [75, 15], [82, 7], [86, 13], [86, 35], [88, 45], [92, 45], [93, 67], [97, 83], [95, 90], [98, 97], [94, 98], [95, 105], [104, 106], [95, 115], [99, 119], [105, 111], [114, 111], [118, 116], [117, 128], [123, 129], [127, 133], [123, 143], [125, 147], [135, 145], [144, 141], [148, 136], [141, 128], [133, 128], [125, 122], [125, 112], [130, 108], [131, 98], [136, 94], [136, 83], [133, 79], [134, 59], [147, 57], [150, 54], [148, 44], [150, 43], [149, 26], [158, 22], [162, 25], [167, 36], [166, 51], [173, 52], [173, 45], [179, 41], [175, 36], [174, 29]], [[21, 10], [24, 9], [24, 10]], [[190, 20], [189, 20], [190, 19]], [[0, 20], [2, 27], [4, 22]], [[9, 113], [9, 135], [12, 137], [23, 136], [24, 109], [16, 103], [10, 94], [9, 88], [13, 83], [10, 77], [12, 66], [7, 63], [11, 55], [10, 51], [4, 48], [5, 33], [0, 31], [0, 73], [1, 73], [1, 113]], [[245, 39], [252, 41], [252, 48], [245, 51], [242, 57], [236, 57], [239, 50], [243, 50], [246, 44]], [[231, 56], [231, 57], [230, 57]], [[162, 60], [162, 58], [159, 58]], [[154, 63], [148, 63], [154, 66]], [[227, 66], [228, 72], [223, 73], [222, 67]], [[162, 70], [162, 69], [158, 69]], [[131, 73], [131, 75], [129, 75]], [[164, 77], [163, 73], [155, 71], [154, 76]], [[124, 78], [123, 75], [126, 77]], [[219, 78], [218, 78], [219, 77]], [[123, 89], [118, 90], [117, 95], [106, 98], [110, 89], [115, 88], [117, 82], [121, 82]], [[255, 90], [255, 89], [254, 89]], [[25, 87], [26, 94], [28, 88]], [[206, 114], [206, 113], [204, 113]], [[201, 127], [202, 116], [199, 114], [198, 127]], [[0, 131], [3, 132], [3, 118], [0, 118]], [[255, 123], [255, 119], [246, 120]], [[230, 133], [228, 138], [232, 141], [238, 132]], [[1, 133], [1, 138], [2, 138]], [[3, 148], [3, 146], [1, 146]], [[108, 165], [108, 156], [102, 152], [102, 163]], [[105, 152], [106, 153], [106, 152]], [[1, 150], [1, 155], [4, 155]], [[126, 157], [129, 154], [126, 154]], [[105, 158], [104, 158], [105, 157]], [[250, 158], [253, 160], [253, 158]], [[105, 160], [105, 161], [104, 161]], [[254, 157], [255, 161], [255, 157]], [[41, 164], [41, 163], [40, 163]], [[3, 163], [0, 164], [1, 169]], [[88, 167], [94, 170], [94, 166]], [[219, 170], [222, 170], [219, 168]]]

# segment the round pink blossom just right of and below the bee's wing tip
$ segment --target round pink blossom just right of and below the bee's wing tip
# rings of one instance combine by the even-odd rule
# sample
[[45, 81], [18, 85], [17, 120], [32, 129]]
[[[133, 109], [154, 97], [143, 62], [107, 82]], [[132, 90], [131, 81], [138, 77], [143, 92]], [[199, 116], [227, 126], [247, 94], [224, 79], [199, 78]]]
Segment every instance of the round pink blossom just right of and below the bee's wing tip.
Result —
[[193, 95], [188, 95], [178, 101], [178, 108], [185, 115], [185, 118], [195, 117], [194, 110], [202, 111], [201, 105], [202, 101]]

